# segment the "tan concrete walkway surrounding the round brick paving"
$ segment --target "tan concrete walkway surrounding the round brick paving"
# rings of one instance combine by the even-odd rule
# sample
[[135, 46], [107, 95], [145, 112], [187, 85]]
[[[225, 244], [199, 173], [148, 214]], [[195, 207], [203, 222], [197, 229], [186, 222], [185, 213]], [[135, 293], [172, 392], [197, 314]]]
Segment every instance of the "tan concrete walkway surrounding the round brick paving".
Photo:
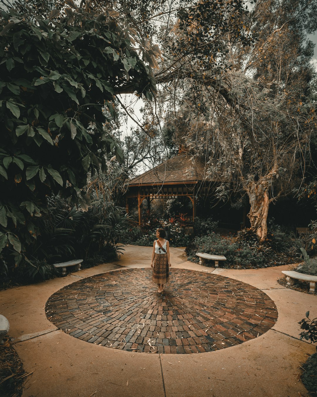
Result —
[[0, 292], [0, 314], [10, 322], [10, 336], [29, 376], [25, 397], [285, 397], [305, 396], [298, 382], [300, 364], [315, 346], [299, 340], [298, 321], [307, 310], [317, 317], [317, 295], [277, 283], [278, 266], [258, 270], [206, 268], [187, 262], [171, 248], [176, 268], [199, 270], [253, 285], [276, 304], [275, 325], [255, 339], [223, 350], [196, 354], [147, 354], [88, 343], [58, 330], [45, 314], [50, 296], [74, 281], [111, 270], [150, 266], [151, 247], [126, 246], [113, 264], [43, 283]]

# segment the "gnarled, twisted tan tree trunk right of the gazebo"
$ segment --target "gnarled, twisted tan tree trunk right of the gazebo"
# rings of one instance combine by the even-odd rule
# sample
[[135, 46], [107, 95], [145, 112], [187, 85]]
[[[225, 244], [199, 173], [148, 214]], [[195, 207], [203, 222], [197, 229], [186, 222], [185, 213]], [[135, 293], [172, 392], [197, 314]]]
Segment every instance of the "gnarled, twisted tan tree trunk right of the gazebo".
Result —
[[269, 195], [267, 181], [250, 181], [246, 192], [250, 201], [251, 227], [256, 231], [260, 241], [264, 241], [267, 235], [267, 214], [269, 212]]

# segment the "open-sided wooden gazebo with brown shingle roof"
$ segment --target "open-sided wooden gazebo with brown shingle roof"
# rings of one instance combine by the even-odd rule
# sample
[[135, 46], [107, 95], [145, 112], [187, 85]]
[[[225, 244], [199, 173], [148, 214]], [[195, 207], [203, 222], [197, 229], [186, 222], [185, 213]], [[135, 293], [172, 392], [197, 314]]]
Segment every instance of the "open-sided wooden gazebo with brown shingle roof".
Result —
[[147, 199], [148, 210], [154, 198], [188, 197], [193, 204], [193, 220], [196, 216], [196, 198], [208, 194], [215, 181], [207, 176], [206, 164], [199, 158], [180, 153], [164, 161], [134, 179], [131, 179], [126, 193], [126, 212], [129, 212], [128, 199], [137, 198], [139, 222], [142, 224], [141, 204]]

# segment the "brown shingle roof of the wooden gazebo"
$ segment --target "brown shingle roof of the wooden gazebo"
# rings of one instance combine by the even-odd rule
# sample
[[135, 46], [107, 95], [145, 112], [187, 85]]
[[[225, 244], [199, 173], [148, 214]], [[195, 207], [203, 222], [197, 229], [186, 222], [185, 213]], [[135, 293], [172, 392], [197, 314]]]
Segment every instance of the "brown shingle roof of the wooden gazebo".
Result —
[[129, 186], [186, 183], [204, 180], [210, 180], [206, 177], [205, 163], [198, 158], [182, 153], [131, 179]]

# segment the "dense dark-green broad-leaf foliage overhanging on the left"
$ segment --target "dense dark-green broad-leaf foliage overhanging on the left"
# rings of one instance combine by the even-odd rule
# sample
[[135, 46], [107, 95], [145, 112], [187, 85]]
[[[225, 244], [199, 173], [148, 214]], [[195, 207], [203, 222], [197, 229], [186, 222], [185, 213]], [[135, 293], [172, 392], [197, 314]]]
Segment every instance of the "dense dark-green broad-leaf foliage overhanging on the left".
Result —
[[0, 60], [0, 252], [7, 261], [38, 235], [47, 197], [88, 209], [87, 172], [105, 172], [109, 152], [122, 158], [103, 129], [103, 109], [113, 114], [113, 95], [127, 79], [148, 98], [155, 80], [128, 27], [76, 7], [48, 17], [2, 10]]

